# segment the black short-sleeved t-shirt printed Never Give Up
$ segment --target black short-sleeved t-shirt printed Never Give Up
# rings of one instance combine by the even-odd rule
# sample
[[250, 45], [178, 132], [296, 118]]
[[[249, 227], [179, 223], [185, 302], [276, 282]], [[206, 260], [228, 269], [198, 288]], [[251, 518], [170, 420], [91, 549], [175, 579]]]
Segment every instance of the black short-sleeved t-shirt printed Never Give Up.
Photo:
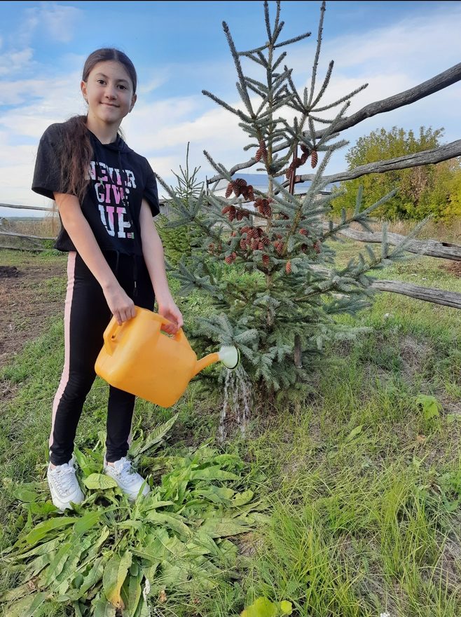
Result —
[[[49, 126], [39, 143], [32, 191], [54, 199], [54, 193], [69, 193], [63, 179], [60, 151], [66, 123]], [[144, 156], [130, 149], [120, 136], [111, 144], [102, 144], [88, 130], [93, 156], [88, 173], [90, 184], [81, 203], [83, 216], [102, 250], [141, 255], [139, 212], [142, 199], [149, 202], [153, 216], [158, 215], [156, 177]], [[82, 170], [85, 173], [85, 170]], [[67, 231], [62, 229], [55, 247], [76, 250]]]

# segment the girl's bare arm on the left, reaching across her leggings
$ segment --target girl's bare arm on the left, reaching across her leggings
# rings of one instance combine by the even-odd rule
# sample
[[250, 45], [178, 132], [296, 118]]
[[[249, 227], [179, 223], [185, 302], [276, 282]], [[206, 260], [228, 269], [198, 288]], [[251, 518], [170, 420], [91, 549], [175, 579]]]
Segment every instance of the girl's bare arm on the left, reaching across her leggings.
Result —
[[110, 311], [116, 318], [118, 325], [121, 325], [124, 321], [135, 316], [135, 303], [122, 289], [109, 264], [104, 259], [95, 235], [83, 216], [78, 199], [74, 195], [64, 193], [55, 193], [54, 195], [64, 229], [69, 233], [69, 238], [74, 243], [83, 262], [101, 285]]

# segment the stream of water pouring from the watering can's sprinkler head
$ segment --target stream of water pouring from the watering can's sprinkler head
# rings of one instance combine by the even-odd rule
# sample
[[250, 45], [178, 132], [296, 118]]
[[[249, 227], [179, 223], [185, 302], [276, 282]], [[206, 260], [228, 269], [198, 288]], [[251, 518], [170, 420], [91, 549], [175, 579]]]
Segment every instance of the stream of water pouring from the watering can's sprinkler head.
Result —
[[224, 400], [219, 416], [218, 440], [222, 443], [233, 423], [237, 423], [245, 435], [252, 409], [252, 391], [249, 377], [241, 364], [236, 369], [226, 370]]

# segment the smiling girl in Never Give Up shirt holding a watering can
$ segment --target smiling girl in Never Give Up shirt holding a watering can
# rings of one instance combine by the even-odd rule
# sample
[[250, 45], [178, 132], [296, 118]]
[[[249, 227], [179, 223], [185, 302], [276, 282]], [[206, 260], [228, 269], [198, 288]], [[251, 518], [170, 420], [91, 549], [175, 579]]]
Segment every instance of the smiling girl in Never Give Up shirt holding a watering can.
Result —
[[[53, 124], [39, 144], [32, 190], [54, 199], [62, 223], [56, 248], [69, 252], [64, 310], [65, 359], [53, 404], [48, 484], [60, 510], [81, 503], [72, 451], [83, 402], [95, 379], [95, 360], [112, 315], [135, 316], [135, 304], [182, 326], [165, 274], [156, 179], [143, 156], [118, 129], [136, 102], [137, 75], [121, 51], [94, 51], [85, 62], [81, 91], [87, 116]], [[154, 296], [155, 292], [155, 296]], [[109, 388], [104, 473], [134, 500], [144, 479], [126, 458], [135, 397]]]

